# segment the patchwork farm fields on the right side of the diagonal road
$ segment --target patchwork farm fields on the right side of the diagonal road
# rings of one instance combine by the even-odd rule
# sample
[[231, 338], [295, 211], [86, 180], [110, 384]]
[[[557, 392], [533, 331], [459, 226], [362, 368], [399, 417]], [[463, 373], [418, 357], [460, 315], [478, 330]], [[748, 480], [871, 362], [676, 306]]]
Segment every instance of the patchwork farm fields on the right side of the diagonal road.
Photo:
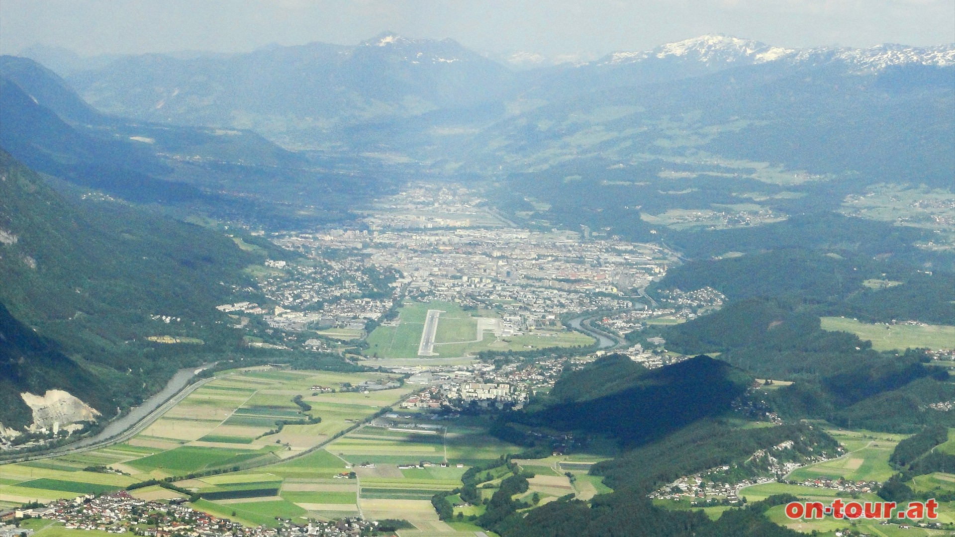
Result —
[[[485, 438], [477, 427], [451, 425], [447, 438], [446, 444], [443, 431], [428, 434], [364, 426], [303, 457], [177, 484], [202, 493], [198, 508], [246, 523], [274, 526], [275, 521], [265, 519], [270, 510], [300, 522], [361, 513], [367, 518], [409, 520], [418, 528], [401, 534], [454, 535], [456, 530], [438, 521], [431, 505], [435, 492], [460, 486], [466, 469], [458, 468], [453, 460], [442, 467], [445, 450], [449, 460], [484, 462], [518, 448]], [[398, 468], [398, 464], [417, 466], [423, 461], [433, 465]], [[373, 466], [361, 466], [367, 462]], [[355, 479], [335, 478], [351, 471]]]

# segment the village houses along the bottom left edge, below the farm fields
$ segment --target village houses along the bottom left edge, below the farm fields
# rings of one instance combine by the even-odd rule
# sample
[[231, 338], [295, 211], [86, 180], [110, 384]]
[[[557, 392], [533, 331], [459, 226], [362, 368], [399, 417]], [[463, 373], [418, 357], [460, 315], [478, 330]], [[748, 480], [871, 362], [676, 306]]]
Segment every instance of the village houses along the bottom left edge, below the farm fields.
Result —
[[[243, 526], [197, 511], [172, 501], [149, 502], [126, 491], [102, 496], [80, 496], [58, 500], [42, 507], [20, 509], [14, 518], [42, 518], [62, 523], [68, 529], [98, 529], [109, 533], [132, 533], [145, 537], [346, 537], [368, 535], [377, 522], [347, 518], [332, 522], [310, 522], [306, 526], [283, 521], [279, 527]], [[2, 528], [3, 526], [0, 526]], [[2, 529], [0, 529], [2, 530]], [[16, 532], [19, 535], [19, 531]]]

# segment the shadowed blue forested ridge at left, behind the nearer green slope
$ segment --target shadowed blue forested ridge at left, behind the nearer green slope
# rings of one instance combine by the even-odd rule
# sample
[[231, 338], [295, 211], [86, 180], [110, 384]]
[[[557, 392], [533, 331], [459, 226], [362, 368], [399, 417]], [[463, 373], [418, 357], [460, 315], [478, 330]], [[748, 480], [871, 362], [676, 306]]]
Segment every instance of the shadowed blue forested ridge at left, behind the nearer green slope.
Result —
[[248, 130], [103, 113], [63, 78], [18, 56], [0, 56], [0, 122], [0, 147], [36, 171], [234, 221], [342, 219], [351, 203], [378, 191], [368, 184], [388, 183], [372, 182], [361, 163], [311, 159]]

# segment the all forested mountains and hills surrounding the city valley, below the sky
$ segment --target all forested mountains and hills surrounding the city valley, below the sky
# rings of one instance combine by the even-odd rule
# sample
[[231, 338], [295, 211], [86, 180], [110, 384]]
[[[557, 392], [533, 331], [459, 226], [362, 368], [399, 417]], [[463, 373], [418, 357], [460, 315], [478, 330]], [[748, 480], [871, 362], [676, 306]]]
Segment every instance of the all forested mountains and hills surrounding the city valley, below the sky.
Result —
[[[618, 238], [673, 251], [680, 261], [648, 287], [600, 294], [671, 301], [667, 324], [621, 337], [661, 359], [664, 343], [697, 354], [653, 370], [605, 355], [500, 415], [489, 432], [531, 454], [550, 455], [550, 437], [620, 457], [593, 465], [614, 491], [589, 506], [564, 497], [523, 519], [498, 491], [485, 515], [504, 498], [510, 518], [482, 515], [485, 529], [795, 535], [763, 516], [779, 497], [713, 522], [647, 493], [783, 445], [817, 457], [838, 445], [823, 419], [892, 434], [955, 426], [931, 406], [955, 385], [930, 354], [822, 329], [835, 316], [952, 324], [953, 45], [794, 50], [704, 35], [587, 62], [514, 56], [522, 70], [393, 32], [247, 54], [27, 54], [59, 74], [0, 56], [0, 436], [39, 424], [31, 401], [59, 392], [112, 418], [180, 367], [363, 367], [290, 349], [305, 333], [279, 339], [217, 306], [272, 302], [253, 275], [299, 254], [268, 237], [361, 229], [353, 209], [442, 181], [515, 227], [584, 227], [582, 243], [613, 238], [613, 256], [643, 255]], [[870, 199], [883, 205], [846, 210]], [[356, 247], [323, 256], [373, 251]], [[319, 263], [295, 265], [319, 278]], [[665, 298], [680, 290], [719, 298], [690, 313]], [[753, 391], [751, 375], [785, 382]], [[506, 479], [526, 481], [519, 469]]]

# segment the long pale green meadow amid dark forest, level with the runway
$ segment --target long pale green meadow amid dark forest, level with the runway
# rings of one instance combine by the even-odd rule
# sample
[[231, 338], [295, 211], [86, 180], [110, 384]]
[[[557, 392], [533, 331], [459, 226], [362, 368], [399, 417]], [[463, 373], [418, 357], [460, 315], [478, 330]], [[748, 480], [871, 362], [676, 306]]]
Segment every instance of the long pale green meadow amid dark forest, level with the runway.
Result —
[[871, 341], [877, 351], [955, 349], [955, 326], [870, 325], [844, 317], [822, 317], [822, 330], [855, 333], [859, 339]]

